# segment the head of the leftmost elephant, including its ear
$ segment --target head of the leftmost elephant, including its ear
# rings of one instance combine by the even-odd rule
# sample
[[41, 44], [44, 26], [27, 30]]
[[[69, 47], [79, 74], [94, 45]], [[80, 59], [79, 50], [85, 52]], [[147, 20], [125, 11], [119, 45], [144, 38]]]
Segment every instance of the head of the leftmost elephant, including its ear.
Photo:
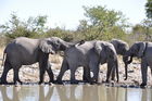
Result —
[[58, 37], [45, 38], [40, 40], [39, 48], [45, 53], [54, 54], [56, 51], [64, 51], [73, 43], [66, 42]]

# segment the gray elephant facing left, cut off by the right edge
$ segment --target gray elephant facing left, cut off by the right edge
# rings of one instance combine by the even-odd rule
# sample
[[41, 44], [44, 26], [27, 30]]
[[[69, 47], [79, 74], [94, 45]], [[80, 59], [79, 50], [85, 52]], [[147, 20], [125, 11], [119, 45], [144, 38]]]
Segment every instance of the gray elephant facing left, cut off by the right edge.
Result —
[[140, 86], [145, 86], [148, 66], [150, 66], [152, 72], [152, 42], [134, 43], [126, 53], [126, 62], [128, 64], [131, 63], [134, 56], [141, 59], [142, 84]]

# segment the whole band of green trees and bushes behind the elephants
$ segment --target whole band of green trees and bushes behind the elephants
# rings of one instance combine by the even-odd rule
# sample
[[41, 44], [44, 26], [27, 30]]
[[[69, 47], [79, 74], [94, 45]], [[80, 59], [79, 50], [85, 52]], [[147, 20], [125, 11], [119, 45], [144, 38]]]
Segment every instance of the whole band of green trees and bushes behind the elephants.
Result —
[[129, 43], [137, 40], [152, 41], [151, 18], [147, 18], [141, 24], [132, 26], [131, 31], [128, 33], [126, 28], [130, 26], [127, 24], [127, 18], [122, 12], [107, 10], [101, 5], [84, 7], [84, 10], [86, 18], [79, 21], [76, 30], [67, 30], [60, 27], [48, 28], [46, 26], [46, 15], [30, 16], [27, 21], [21, 21], [16, 13], [12, 13], [10, 21], [0, 25], [0, 43], [2, 43], [0, 46], [16, 37], [46, 38], [53, 36], [66, 41], [78, 41], [81, 39], [111, 40], [113, 38], [123, 39]]

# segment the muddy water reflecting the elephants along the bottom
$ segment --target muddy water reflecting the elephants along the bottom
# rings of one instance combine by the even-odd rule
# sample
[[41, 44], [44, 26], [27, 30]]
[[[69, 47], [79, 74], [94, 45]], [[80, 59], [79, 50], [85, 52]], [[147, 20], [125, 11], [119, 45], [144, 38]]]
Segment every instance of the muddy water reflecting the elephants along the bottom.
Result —
[[152, 101], [152, 89], [97, 85], [0, 86], [0, 101]]

